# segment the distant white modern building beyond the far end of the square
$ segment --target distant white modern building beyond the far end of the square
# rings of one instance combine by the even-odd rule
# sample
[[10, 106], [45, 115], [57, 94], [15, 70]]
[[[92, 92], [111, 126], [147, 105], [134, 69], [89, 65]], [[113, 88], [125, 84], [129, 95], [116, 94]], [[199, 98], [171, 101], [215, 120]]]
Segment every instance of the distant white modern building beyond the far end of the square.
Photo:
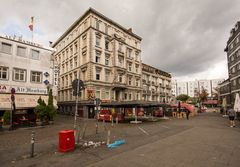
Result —
[[218, 92], [218, 84], [223, 81], [224, 79], [196, 80], [188, 82], [174, 81], [172, 83], [172, 93], [176, 97], [180, 94], [187, 94], [190, 97], [197, 97], [198, 93], [205, 89], [208, 92], [208, 96], [213, 97]]

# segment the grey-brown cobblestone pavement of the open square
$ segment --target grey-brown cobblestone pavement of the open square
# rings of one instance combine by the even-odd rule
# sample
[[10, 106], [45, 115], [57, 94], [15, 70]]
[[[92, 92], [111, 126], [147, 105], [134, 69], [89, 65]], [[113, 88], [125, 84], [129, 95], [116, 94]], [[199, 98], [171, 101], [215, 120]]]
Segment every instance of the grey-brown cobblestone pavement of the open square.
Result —
[[[85, 140], [106, 141], [107, 131], [94, 120], [78, 120]], [[203, 113], [190, 120], [171, 119], [143, 124], [118, 124], [111, 127], [111, 141], [126, 144], [107, 149], [77, 147], [74, 152], [59, 153], [58, 132], [72, 129], [73, 117], [58, 116], [55, 124], [43, 128], [22, 128], [0, 132], [1, 166], [240, 166], [240, 125], [228, 126], [218, 113]], [[29, 158], [30, 135], [36, 133], [35, 157]]]

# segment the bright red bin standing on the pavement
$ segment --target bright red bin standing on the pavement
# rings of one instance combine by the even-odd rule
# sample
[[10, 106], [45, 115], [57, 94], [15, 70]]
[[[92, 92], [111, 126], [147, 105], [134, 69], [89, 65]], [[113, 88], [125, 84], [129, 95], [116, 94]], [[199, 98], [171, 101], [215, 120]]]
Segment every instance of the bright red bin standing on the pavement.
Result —
[[74, 131], [63, 130], [59, 132], [58, 151], [67, 152], [74, 150]]

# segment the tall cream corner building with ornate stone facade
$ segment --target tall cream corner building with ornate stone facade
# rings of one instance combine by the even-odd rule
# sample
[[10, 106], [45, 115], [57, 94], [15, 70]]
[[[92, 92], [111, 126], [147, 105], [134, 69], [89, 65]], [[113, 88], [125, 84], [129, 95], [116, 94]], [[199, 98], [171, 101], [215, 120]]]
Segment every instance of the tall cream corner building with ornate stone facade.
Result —
[[58, 66], [58, 105], [75, 107], [72, 81], [81, 79], [79, 115], [91, 117], [93, 100], [141, 100], [141, 37], [90, 8], [53, 44]]

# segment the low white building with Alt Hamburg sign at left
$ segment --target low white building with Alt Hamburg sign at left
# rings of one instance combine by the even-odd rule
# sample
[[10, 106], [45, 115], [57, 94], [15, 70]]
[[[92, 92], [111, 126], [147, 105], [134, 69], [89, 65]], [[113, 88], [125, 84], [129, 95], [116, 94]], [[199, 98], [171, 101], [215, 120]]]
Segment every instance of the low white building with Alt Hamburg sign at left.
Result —
[[17, 111], [33, 110], [41, 96], [47, 102], [53, 86], [52, 50], [21, 37], [0, 36], [0, 112], [11, 110], [14, 88]]

